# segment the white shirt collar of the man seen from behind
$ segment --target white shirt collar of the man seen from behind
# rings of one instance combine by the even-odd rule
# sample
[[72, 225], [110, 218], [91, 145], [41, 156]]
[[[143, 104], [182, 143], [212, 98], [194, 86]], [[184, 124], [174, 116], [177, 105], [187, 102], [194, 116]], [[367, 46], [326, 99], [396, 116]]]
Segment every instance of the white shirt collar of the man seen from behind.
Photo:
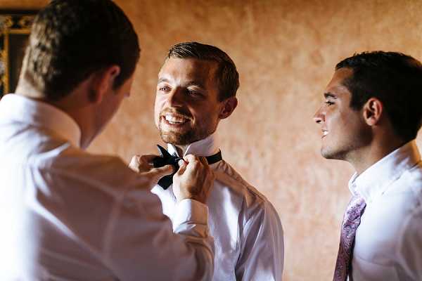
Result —
[[50, 129], [70, 141], [77, 148], [80, 146], [81, 131], [72, 117], [53, 105], [33, 100], [25, 96], [8, 94], [0, 101], [0, 120], [12, 119]]

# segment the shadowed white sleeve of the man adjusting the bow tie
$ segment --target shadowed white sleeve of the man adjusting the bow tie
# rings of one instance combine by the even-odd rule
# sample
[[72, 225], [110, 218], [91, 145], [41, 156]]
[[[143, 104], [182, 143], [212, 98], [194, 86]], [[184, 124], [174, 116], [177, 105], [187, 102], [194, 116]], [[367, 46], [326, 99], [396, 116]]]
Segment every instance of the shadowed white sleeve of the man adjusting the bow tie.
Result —
[[182, 200], [173, 231], [148, 179], [113, 157], [91, 158], [49, 176], [54, 214], [81, 248], [66, 251], [92, 256], [91, 272], [107, 270], [121, 281], [211, 280], [207, 206]]

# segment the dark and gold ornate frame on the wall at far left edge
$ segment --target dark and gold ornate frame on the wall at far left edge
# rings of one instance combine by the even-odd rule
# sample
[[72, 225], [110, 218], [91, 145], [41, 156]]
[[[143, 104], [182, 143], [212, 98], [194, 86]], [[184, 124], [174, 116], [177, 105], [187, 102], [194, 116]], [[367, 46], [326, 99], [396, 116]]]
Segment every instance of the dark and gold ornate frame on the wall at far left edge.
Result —
[[13, 93], [37, 11], [0, 10], [0, 98]]

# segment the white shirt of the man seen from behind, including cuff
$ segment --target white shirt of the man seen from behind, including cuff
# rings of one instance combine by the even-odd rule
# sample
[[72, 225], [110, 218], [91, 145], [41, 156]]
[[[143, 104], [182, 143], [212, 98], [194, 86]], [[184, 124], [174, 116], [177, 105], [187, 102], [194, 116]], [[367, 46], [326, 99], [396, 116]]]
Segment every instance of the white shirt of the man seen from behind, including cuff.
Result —
[[79, 138], [56, 107], [0, 101], [0, 280], [209, 280], [205, 204], [179, 202], [173, 233], [146, 178]]

